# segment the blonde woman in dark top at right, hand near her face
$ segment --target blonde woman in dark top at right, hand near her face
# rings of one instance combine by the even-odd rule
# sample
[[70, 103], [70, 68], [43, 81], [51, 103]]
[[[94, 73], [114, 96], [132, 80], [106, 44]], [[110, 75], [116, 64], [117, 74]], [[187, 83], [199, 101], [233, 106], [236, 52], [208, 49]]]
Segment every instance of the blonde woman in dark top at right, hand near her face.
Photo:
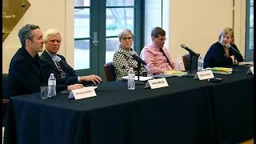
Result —
[[[218, 42], [215, 42], [210, 46], [210, 49], [207, 51], [206, 57], [204, 58], [204, 68], [230, 66], [233, 64], [234, 52], [225, 46], [226, 43], [229, 43], [230, 46], [238, 50], [238, 47], [234, 44], [234, 30], [229, 27], [224, 28], [222, 33], [218, 36]], [[241, 54], [236, 54], [235, 58], [236, 63], [243, 61]]]

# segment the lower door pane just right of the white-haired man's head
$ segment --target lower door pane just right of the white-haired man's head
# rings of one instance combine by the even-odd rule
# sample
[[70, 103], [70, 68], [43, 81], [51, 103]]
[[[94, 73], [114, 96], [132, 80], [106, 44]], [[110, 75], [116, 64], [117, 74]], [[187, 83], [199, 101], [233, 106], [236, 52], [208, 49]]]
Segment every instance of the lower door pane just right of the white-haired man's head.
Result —
[[74, 70], [90, 68], [90, 40], [74, 41]]

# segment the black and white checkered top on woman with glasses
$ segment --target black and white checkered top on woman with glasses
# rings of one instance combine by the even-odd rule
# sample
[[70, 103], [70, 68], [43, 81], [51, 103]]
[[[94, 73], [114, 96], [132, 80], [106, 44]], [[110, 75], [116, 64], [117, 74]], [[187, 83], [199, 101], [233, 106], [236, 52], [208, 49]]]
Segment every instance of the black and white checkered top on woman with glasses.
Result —
[[[130, 50], [133, 51], [131, 48]], [[117, 81], [122, 80], [122, 77], [128, 75], [128, 70], [130, 69], [130, 67], [134, 68], [135, 74], [138, 75], [138, 62], [132, 56], [130, 56], [128, 52], [129, 50], [120, 45], [118, 51], [114, 53], [113, 65]], [[138, 56], [138, 54], [135, 51], [134, 54]], [[140, 75], [146, 76], [146, 69], [144, 68], [143, 65], [140, 70]]]

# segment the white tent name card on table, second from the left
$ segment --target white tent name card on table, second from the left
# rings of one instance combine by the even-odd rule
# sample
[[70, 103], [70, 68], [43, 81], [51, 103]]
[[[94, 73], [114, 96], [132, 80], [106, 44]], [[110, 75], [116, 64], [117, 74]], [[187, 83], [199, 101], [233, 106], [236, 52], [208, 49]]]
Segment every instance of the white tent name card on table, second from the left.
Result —
[[158, 78], [158, 79], [151, 79], [146, 82], [146, 85], [144, 88], [151, 88], [151, 89], [158, 89], [161, 87], [169, 86], [166, 82], [166, 78]]

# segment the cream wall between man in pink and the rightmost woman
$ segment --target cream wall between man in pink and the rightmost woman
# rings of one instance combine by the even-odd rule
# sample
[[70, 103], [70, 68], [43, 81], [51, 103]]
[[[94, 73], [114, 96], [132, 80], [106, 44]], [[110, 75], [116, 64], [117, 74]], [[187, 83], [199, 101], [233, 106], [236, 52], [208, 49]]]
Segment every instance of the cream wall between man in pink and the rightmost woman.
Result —
[[218, 34], [232, 27], [233, 0], [172, 0], [170, 1], [170, 54], [188, 54], [185, 44], [204, 57], [206, 51], [218, 42]]

